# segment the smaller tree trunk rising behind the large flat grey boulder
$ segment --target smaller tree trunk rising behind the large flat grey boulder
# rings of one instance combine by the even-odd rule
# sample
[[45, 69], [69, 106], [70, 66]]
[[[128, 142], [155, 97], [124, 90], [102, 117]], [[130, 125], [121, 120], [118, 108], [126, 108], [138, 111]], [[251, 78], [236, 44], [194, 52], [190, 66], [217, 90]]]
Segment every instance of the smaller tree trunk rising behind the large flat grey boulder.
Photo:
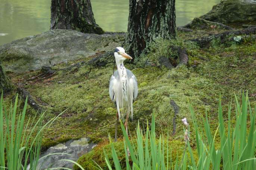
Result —
[[102, 34], [96, 24], [90, 0], [51, 0], [51, 28]]

